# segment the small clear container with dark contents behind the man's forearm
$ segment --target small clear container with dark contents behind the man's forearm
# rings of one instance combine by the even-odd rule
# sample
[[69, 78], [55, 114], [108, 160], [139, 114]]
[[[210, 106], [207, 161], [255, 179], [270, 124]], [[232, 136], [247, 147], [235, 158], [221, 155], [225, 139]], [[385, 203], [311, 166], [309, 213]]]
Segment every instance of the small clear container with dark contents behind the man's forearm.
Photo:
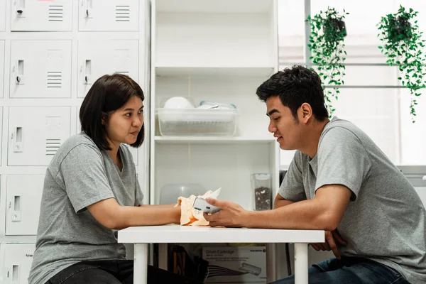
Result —
[[263, 211], [271, 209], [271, 183], [271, 175], [269, 173], [253, 173], [251, 175], [251, 187], [253, 187], [254, 191], [254, 210]]

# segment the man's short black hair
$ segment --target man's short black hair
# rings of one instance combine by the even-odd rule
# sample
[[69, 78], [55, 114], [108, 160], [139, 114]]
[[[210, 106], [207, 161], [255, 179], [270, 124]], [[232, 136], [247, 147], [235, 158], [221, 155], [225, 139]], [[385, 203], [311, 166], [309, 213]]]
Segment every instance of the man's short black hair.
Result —
[[258, 87], [256, 94], [263, 102], [270, 97], [280, 97], [281, 103], [291, 110], [296, 121], [297, 109], [305, 102], [310, 104], [318, 121], [328, 117], [320, 76], [300, 65], [276, 72]]

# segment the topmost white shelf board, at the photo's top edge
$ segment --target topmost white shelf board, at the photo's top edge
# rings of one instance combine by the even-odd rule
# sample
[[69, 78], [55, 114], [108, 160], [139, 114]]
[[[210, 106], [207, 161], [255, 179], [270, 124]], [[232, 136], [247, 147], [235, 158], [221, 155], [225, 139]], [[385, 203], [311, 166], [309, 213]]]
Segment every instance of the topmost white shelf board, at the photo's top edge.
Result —
[[158, 12], [165, 13], [267, 13], [273, 0], [157, 0]]

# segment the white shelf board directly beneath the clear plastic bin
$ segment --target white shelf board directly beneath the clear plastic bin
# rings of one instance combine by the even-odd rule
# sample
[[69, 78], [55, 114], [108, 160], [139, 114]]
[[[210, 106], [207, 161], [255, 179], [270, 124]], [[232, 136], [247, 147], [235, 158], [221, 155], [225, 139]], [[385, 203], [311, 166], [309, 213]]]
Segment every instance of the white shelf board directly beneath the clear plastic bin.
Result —
[[161, 144], [234, 144], [234, 143], [274, 143], [275, 138], [219, 137], [219, 136], [155, 136], [155, 143]]

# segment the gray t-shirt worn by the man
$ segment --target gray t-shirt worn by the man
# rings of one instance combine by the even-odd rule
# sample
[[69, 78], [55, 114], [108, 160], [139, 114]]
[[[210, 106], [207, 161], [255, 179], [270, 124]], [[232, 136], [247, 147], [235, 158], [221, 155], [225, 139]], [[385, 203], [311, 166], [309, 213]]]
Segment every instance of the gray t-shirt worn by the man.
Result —
[[352, 192], [338, 231], [342, 256], [358, 256], [426, 283], [426, 212], [414, 187], [366, 133], [334, 117], [322, 131], [312, 160], [297, 151], [279, 194], [298, 202], [323, 185]]

